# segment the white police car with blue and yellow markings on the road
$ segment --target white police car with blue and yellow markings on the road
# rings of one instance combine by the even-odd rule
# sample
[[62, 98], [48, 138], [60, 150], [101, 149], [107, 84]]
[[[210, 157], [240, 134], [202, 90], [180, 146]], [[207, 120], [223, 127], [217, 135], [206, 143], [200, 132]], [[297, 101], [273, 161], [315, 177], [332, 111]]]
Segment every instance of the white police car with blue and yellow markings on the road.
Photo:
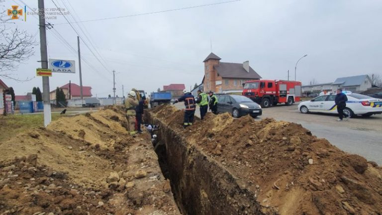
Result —
[[[382, 113], [382, 100], [375, 99], [361, 94], [347, 94], [348, 101], [344, 112], [350, 117], [355, 115], [371, 116]], [[302, 113], [322, 112], [337, 113], [337, 106], [334, 103], [336, 94], [318, 96], [310, 101], [301, 102], [298, 110]]]

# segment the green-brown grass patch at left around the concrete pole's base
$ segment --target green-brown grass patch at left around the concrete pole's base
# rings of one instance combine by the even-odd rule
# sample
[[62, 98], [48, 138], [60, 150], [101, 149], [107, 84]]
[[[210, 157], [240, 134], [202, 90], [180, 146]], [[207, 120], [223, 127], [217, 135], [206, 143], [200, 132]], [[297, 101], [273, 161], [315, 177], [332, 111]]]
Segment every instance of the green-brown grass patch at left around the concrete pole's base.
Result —
[[[62, 117], [52, 113], [52, 121]], [[44, 126], [44, 114], [0, 115], [0, 142], [34, 127]]]

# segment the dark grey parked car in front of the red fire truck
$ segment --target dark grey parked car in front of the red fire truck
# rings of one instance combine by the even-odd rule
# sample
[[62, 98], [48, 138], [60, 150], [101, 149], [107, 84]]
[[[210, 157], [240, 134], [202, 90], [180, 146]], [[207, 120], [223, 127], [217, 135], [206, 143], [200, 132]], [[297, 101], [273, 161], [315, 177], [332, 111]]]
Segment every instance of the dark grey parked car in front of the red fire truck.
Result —
[[229, 112], [235, 118], [247, 114], [256, 118], [263, 112], [260, 105], [245, 96], [238, 95], [219, 96], [217, 99], [217, 111]]

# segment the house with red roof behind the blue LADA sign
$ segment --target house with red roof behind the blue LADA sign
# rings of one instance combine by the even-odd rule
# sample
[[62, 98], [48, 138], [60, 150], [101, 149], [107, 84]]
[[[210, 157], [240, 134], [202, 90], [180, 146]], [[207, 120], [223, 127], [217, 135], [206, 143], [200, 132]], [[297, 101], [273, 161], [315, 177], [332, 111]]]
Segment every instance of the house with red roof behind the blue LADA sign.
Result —
[[[77, 84], [71, 83], [66, 84], [60, 87], [64, 91], [65, 98], [69, 99], [81, 99], [81, 87]], [[82, 86], [82, 95], [83, 98], [91, 98], [92, 95], [92, 87]], [[56, 89], [50, 92], [50, 100], [56, 99]]]

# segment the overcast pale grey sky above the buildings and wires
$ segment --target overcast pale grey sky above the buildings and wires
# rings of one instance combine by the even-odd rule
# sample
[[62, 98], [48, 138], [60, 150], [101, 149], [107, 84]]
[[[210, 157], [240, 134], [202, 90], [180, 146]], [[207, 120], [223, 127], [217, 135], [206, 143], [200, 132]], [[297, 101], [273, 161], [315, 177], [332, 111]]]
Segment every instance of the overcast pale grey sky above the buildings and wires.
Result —
[[[37, 8], [37, 0], [23, 0]], [[225, 0], [54, 0], [61, 7], [90, 20], [145, 12], [155, 12]], [[20, 0], [5, 0], [3, 8], [24, 6]], [[69, 3], [70, 2], [70, 3]], [[71, 7], [73, 6], [73, 8]], [[46, 8], [54, 8], [45, 0]], [[28, 9], [27, 9], [28, 10]], [[104, 69], [89, 49], [82, 44], [83, 85], [91, 86], [98, 97], [112, 95], [112, 70], [116, 75], [116, 95], [131, 88], [156, 91], [168, 84], [185, 84], [187, 88], [200, 83], [204, 70], [202, 61], [212, 51], [222, 62], [250, 66], [264, 79], [294, 78], [308, 84], [332, 82], [337, 77], [376, 73], [382, 75], [382, 1], [381, 0], [241, 0], [212, 6], [164, 13], [85, 22], [80, 27], [93, 41], [106, 61]], [[71, 16], [67, 17], [72, 20]], [[62, 16], [50, 20], [77, 50], [77, 34]], [[16, 20], [9, 27], [26, 29], [39, 41], [37, 16], [27, 21]], [[80, 36], [93, 48], [77, 24]], [[75, 60], [78, 56], [47, 30], [48, 58]], [[19, 66], [17, 77], [34, 77], [41, 67], [40, 47], [35, 55]], [[93, 49], [95, 52], [95, 50]], [[95, 52], [95, 54], [97, 54]], [[99, 57], [98, 57], [99, 58]], [[101, 60], [102, 61], [102, 60]], [[103, 62], [103, 61], [102, 61]], [[79, 74], [53, 74], [50, 90], [66, 83], [79, 84]], [[29, 82], [3, 81], [15, 89], [16, 95], [42, 89], [41, 77]]]

